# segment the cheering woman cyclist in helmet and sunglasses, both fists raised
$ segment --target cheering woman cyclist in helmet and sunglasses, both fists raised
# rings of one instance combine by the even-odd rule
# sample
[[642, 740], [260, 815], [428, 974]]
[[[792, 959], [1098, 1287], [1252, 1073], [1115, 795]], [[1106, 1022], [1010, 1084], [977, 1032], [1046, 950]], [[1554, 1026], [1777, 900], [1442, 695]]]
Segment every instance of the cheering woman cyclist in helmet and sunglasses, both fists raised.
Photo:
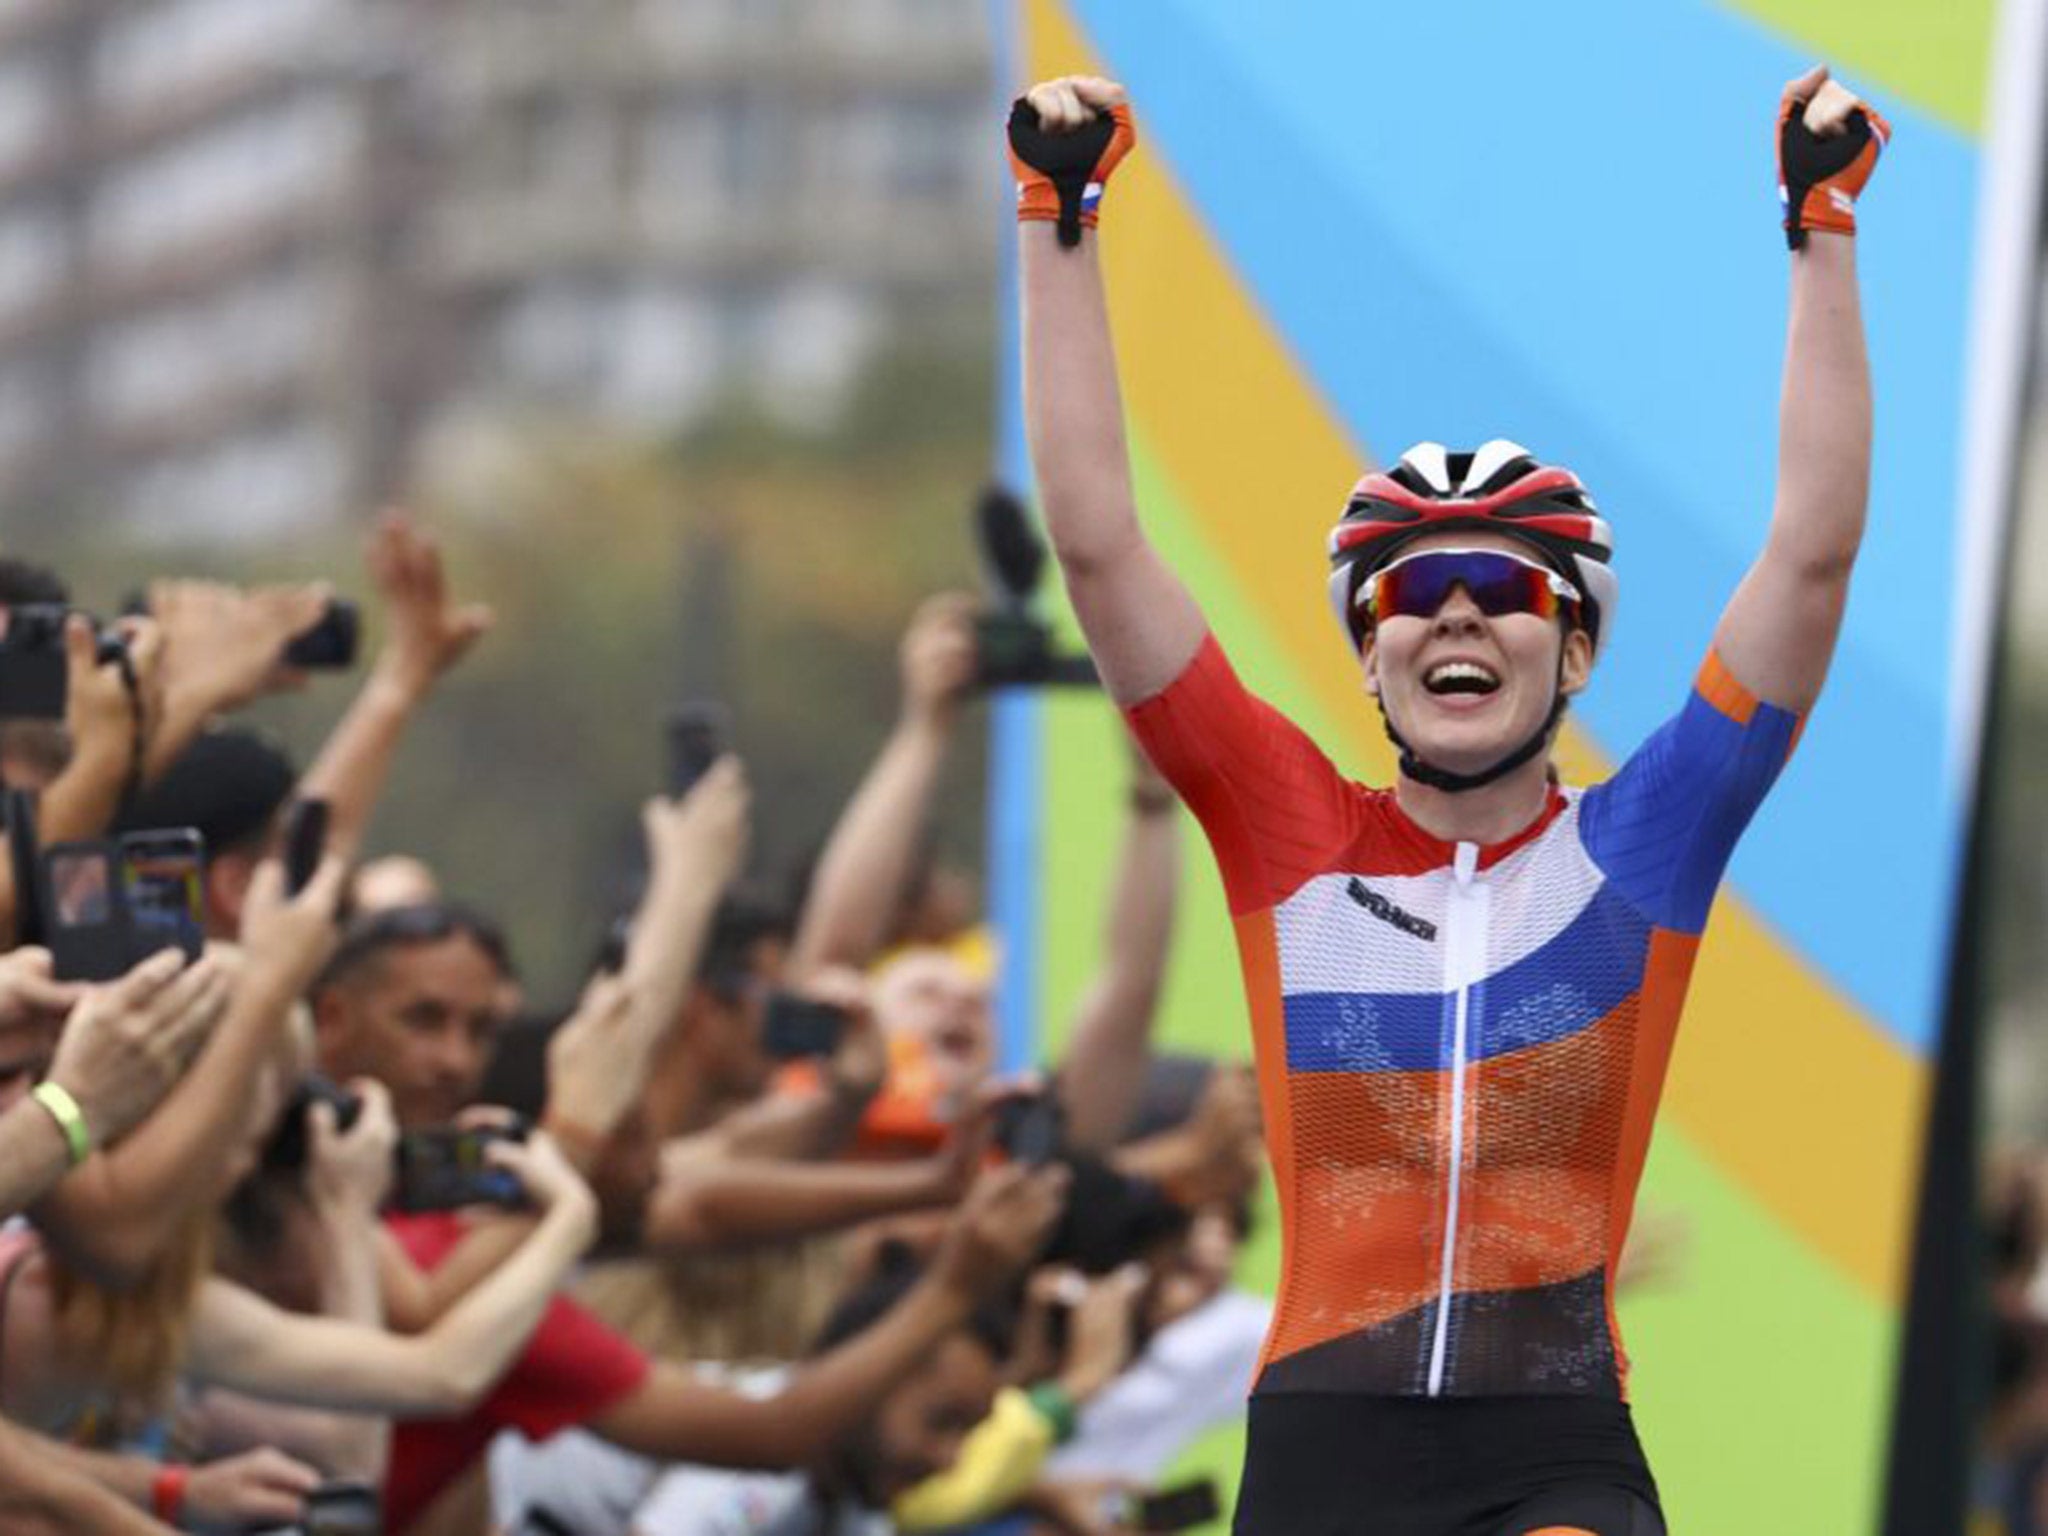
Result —
[[1139, 526], [1092, 233], [1135, 141], [1122, 90], [1051, 80], [1012, 115], [1047, 526], [1223, 870], [1280, 1182], [1241, 1534], [1663, 1532], [1614, 1264], [1714, 887], [1821, 690], [1864, 532], [1853, 199], [1884, 137], [1827, 70], [1784, 92], [1769, 537], [1692, 692], [1608, 782], [1550, 768], [1616, 594], [1579, 479], [1425, 442], [1358, 481], [1331, 596], [1401, 752], [1382, 791], [1239, 684]]

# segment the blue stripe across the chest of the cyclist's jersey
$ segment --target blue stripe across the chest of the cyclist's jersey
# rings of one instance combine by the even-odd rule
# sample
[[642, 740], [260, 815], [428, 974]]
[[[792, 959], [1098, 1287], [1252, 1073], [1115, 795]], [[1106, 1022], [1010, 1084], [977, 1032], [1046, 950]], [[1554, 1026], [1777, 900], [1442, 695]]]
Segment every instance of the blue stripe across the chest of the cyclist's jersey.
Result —
[[[1642, 981], [1651, 928], [1610, 885], [1571, 924], [1473, 987], [1468, 1061], [1577, 1034]], [[1305, 991], [1284, 999], [1288, 1071], [1448, 1071], [1452, 997], [1442, 991]]]

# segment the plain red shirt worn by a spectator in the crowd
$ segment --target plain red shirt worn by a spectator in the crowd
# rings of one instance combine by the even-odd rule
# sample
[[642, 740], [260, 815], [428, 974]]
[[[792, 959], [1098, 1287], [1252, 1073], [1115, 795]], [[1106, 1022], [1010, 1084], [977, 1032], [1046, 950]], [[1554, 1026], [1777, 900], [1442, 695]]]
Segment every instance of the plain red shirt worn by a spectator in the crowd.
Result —
[[[422, 1270], [436, 1270], [465, 1231], [455, 1212], [387, 1217], [385, 1225]], [[393, 1425], [385, 1526], [399, 1532], [418, 1520], [500, 1430], [547, 1440], [637, 1393], [649, 1368], [633, 1343], [567, 1296], [555, 1296], [512, 1368], [469, 1413]]]

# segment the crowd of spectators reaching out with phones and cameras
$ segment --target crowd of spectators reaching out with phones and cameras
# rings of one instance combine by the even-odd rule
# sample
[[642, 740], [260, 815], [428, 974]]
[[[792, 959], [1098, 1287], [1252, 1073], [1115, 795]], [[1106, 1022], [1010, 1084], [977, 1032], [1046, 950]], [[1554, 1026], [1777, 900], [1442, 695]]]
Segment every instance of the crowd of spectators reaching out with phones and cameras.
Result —
[[[1257, 1092], [1153, 1049], [1165, 784], [1104, 784], [1100, 967], [1001, 1077], [1001, 936], [928, 838], [977, 692], [975, 602], [938, 596], [801, 895], [745, 881], [715, 756], [643, 807], [637, 905], [551, 1022], [496, 893], [362, 846], [492, 629], [403, 516], [369, 586], [301, 770], [231, 717], [305, 682], [328, 586], [164, 580], [102, 625], [0, 561], [0, 1532], [1130, 1528], [1266, 1325], [1231, 1286]], [[37, 711], [6, 668], [53, 651]], [[82, 979], [109, 903], [63, 850], [125, 887], [166, 836], [190, 942], [137, 909]]]

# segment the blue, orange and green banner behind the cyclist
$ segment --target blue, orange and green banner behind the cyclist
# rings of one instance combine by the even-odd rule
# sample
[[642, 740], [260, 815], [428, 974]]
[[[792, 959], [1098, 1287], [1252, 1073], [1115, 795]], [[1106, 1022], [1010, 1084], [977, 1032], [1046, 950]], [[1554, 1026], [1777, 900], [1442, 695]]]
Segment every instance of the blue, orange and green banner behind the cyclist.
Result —
[[[1323, 598], [1358, 473], [1509, 436], [1587, 479], [1622, 602], [1561, 760], [1606, 776], [1683, 698], [1769, 518], [1778, 92], [1825, 57], [1894, 123], [1860, 240], [1870, 539], [1827, 694], [1708, 928], [1638, 1206], [1675, 1251], [1622, 1300], [1675, 1530], [1878, 1524], [1982, 668], [1958, 485], [1995, 12], [1020, 8], [1018, 82], [1108, 74], [1139, 113], [1102, 252], [1145, 522], [1247, 680], [1370, 782], [1391, 752]], [[1006, 881], [1038, 928], [1014, 997], [1055, 1038], [1096, 961], [1116, 737], [1100, 700], [1006, 735], [1010, 846], [1038, 850]], [[1188, 834], [1161, 1034], [1247, 1057]]]

